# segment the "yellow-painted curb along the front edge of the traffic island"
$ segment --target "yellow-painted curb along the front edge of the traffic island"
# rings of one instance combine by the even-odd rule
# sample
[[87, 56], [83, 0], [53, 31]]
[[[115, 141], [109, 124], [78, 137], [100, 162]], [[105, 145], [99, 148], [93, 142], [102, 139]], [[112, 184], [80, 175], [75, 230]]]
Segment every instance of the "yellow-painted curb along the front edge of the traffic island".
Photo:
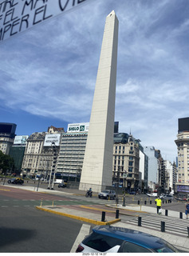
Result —
[[79, 216], [72, 215], [72, 214], [65, 214], [65, 213], [57, 212], [55, 210], [45, 209], [45, 208], [42, 208], [41, 206], [36, 206], [36, 209], [37, 210], [44, 210], [44, 211], [49, 212], [51, 214], [58, 214], [58, 215], [69, 217], [69, 218], [75, 218], [75, 219], [78, 219], [82, 222], [89, 222], [89, 223], [93, 223], [95, 225], [111, 225], [111, 224], [114, 224], [116, 222], [120, 222], [120, 218], [116, 218], [116, 219], [114, 219], [110, 222], [100, 222], [100, 221], [95, 221], [95, 220], [90, 219], [90, 218], [83, 218], [83, 217], [79, 217]]

